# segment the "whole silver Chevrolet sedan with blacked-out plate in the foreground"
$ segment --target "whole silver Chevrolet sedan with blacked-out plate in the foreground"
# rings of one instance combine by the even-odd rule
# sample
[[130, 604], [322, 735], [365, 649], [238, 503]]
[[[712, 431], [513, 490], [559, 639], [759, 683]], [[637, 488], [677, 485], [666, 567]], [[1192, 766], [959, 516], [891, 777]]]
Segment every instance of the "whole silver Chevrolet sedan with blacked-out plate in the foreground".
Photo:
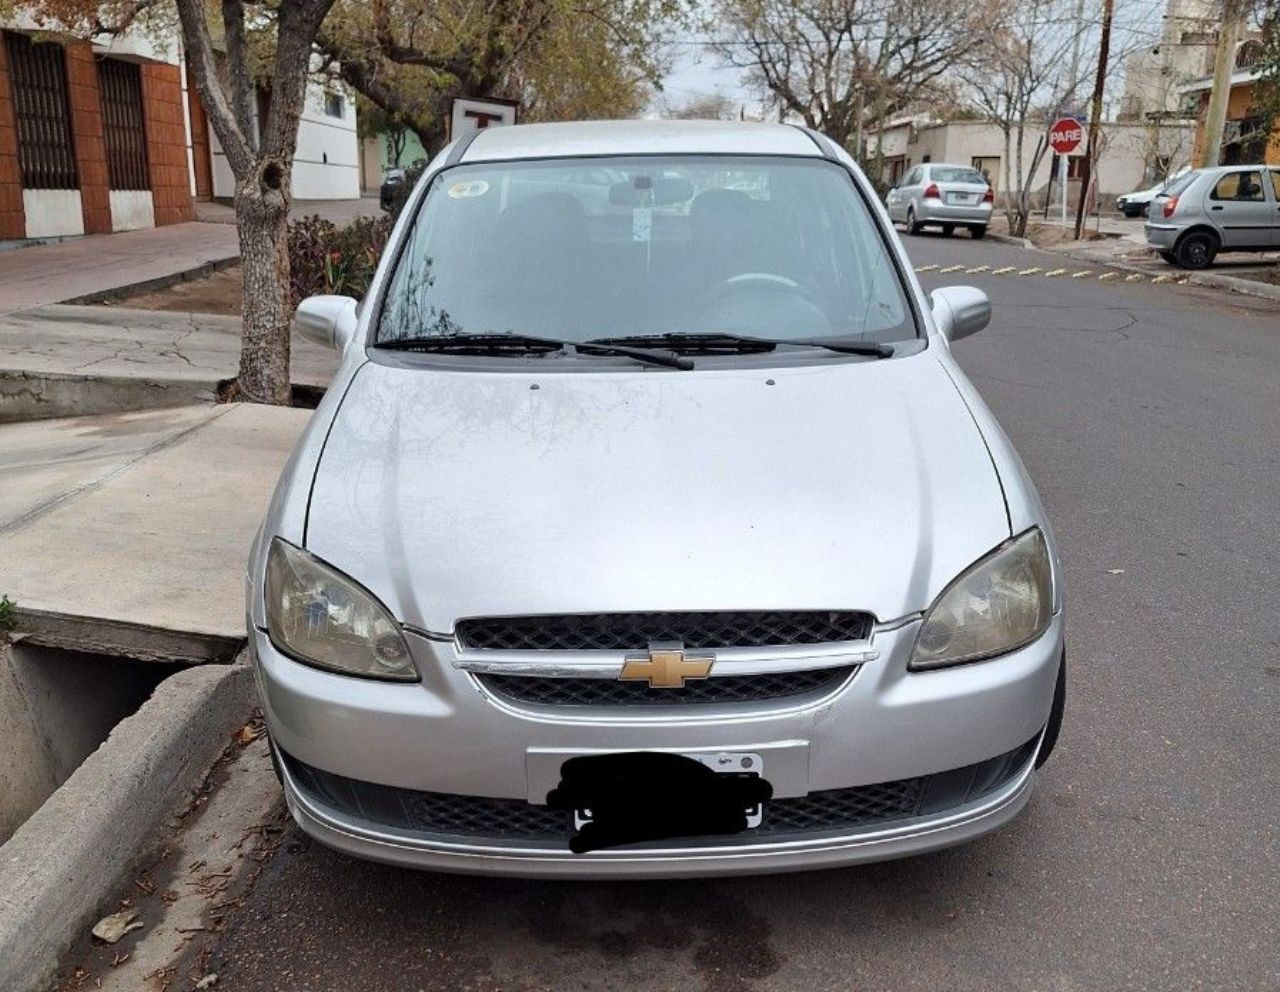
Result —
[[454, 142], [362, 303], [297, 315], [342, 366], [247, 595], [293, 817], [361, 858], [579, 878], [1007, 823], [1057, 739], [1064, 605], [951, 357], [988, 319], [925, 297], [818, 134]]

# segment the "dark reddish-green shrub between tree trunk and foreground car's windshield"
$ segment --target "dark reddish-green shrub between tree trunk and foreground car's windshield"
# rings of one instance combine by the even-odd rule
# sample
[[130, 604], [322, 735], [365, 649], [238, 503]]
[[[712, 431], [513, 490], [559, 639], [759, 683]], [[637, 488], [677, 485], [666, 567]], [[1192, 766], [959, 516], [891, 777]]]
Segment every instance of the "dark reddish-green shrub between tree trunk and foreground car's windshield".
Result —
[[378, 269], [392, 221], [358, 218], [339, 228], [319, 216], [289, 224], [289, 294], [293, 306], [332, 293], [360, 300]]

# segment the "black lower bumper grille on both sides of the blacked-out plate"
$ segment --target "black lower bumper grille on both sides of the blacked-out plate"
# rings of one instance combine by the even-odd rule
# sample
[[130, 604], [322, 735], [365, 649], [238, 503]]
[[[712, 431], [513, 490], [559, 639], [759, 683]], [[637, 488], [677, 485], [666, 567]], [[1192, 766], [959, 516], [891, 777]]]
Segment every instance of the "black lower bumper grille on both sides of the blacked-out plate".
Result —
[[[724, 837], [722, 842], [797, 838], [943, 813], [1012, 780], [1027, 768], [1038, 741], [1039, 735], [1036, 735], [1020, 748], [950, 772], [774, 799], [764, 804], [759, 827]], [[434, 837], [525, 841], [557, 849], [566, 847], [572, 826], [567, 813], [520, 799], [374, 785], [321, 772], [283, 753], [280, 756], [303, 791], [339, 813], [378, 826]], [[714, 842], [716, 838], [701, 837], [696, 842], [708, 844], [709, 840]]]

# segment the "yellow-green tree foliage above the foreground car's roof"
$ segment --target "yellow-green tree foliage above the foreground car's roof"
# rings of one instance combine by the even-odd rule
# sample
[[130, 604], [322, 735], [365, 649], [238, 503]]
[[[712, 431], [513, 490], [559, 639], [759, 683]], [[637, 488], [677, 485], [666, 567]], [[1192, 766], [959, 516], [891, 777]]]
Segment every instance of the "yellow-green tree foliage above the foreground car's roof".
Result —
[[454, 96], [520, 101], [522, 120], [635, 116], [696, 0], [338, 0], [317, 49], [429, 155]]

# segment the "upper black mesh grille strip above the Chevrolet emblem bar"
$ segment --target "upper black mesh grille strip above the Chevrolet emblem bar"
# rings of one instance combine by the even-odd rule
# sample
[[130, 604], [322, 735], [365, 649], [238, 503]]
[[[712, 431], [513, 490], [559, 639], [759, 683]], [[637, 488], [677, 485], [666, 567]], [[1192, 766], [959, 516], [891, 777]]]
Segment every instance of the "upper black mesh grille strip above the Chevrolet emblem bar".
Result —
[[868, 613], [773, 611], [732, 613], [580, 613], [481, 617], [457, 625], [463, 648], [520, 652], [643, 650], [653, 641], [686, 649], [836, 644], [865, 640]]

